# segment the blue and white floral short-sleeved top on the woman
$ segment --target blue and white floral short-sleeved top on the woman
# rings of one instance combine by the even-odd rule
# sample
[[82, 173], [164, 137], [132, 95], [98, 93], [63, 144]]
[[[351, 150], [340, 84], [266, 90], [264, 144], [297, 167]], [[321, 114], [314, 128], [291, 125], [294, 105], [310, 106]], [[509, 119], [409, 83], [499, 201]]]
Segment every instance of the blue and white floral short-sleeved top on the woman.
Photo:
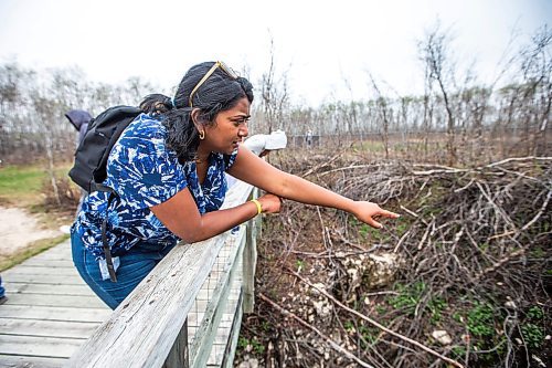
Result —
[[[226, 193], [224, 171], [234, 164], [232, 155], [211, 154], [202, 185], [195, 162], [180, 165], [177, 154], [166, 146], [167, 130], [161, 119], [139, 115], [123, 132], [107, 161], [104, 185], [119, 194], [110, 207], [107, 238], [114, 256], [124, 254], [141, 240], [158, 243], [160, 249], [173, 245], [179, 239], [150, 211], [184, 188], [189, 188], [200, 213], [220, 209]], [[96, 257], [105, 257], [102, 246], [102, 222], [108, 193], [93, 192], [83, 202], [75, 231], [83, 236], [86, 249]]]

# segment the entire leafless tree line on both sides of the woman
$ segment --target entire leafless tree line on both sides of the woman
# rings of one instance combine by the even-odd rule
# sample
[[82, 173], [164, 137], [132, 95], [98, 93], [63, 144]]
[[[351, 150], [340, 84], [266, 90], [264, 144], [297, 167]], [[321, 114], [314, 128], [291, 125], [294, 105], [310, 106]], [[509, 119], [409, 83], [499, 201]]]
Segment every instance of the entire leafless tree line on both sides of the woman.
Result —
[[[293, 104], [287, 71], [278, 70], [270, 49], [251, 132], [282, 128], [301, 136], [310, 129], [325, 145], [375, 141], [385, 158], [428, 159], [438, 149], [444, 153], [439, 160], [448, 165], [471, 162], [489, 149], [489, 159], [550, 151], [552, 31], [544, 27], [510, 52], [490, 83], [480, 82], [474, 69], [460, 72], [452, 41], [437, 25], [418, 42], [422, 95], [389, 93], [383, 81], [369, 74], [370, 96], [318, 107]], [[0, 65], [0, 159], [29, 161], [47, 151], [68, 159], [75, 135], [65, 112], [83, 108], [96, 115], [112, 105], [136, 105], [152, 92], [159, 88], [137, 77], [108, 85], [87, 82], [78, 70], [38, 73], [17, 63]]]

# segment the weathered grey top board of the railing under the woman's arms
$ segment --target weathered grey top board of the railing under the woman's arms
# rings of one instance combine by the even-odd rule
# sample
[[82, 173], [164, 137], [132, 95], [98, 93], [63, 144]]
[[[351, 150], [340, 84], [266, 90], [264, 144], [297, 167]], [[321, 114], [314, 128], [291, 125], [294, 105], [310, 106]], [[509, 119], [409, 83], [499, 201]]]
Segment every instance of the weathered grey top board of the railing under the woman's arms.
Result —
[[[223, 208], [243, 203], [252, 189], [238, 181], [229, 191]], [[192, 353], [195, 356], [189, 356], [187, 316], [229, 232], [225, 232], [202, 242], [174, 246], [71, 357], [66, 367], [195, 366], [198, 353], [204, 354], [205, 347], [194, 341]], [[245, 239], [243, 230], [233, 241], [241, 243], [242, 239]], [[240, 252], [236, 250], [234, 259], [241, 255]], [[227, 271], [221, 281], [223, 285], [215, 288], [217, 301], [225, 299], [224, 293], [231, 280], [231, 270]], [[219, 305], [217, 301], [215, 305]], [[216, 306], [211, 306], [213, 308]], [[203, 325], [205, 330], [213, 328]], [[200, 328], [194, 340], [199, 341], [201, 334]], [[212, 339], [208, 343], [212, 344]]]

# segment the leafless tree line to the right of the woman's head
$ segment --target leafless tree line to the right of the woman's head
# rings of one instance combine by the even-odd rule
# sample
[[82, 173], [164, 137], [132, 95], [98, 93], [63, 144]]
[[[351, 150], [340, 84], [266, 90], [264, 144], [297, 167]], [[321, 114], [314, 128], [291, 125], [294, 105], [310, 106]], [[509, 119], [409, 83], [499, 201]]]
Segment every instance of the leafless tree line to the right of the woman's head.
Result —
[[[378, 140], [385, 158], [396, 158], [397, 146], [408, 146], [411, 157], [427, 159], [442, 144], [443, 162], [448, 165], [471, 162], [490, 148], [493, 155], [488, 160], [542, 155], [550, 151], [551, 41], [549, 28], [538, 30], [520, 50], [505, 52], [495, 80], [482, 83], [473, 66], [460, 71], [453, 38], [437, 24], [417, 45], [424, 73], [422, 95], [386, 94], [384, 81], [369, 73], [372, 94], [365, 99], [312, 108], [291, 106], [287, 86], [282, 84], [278, 91], [270, 85], [272, 95], [263, 101], [265, 108], [270, 105], [270, 116], [258, 116], [255, 130], [283, 128], [300, 137], [310, 129], [320, 141], [331, 137], [337, 146]], [[273, 64], [269, 73], [275, 73]], [[275, 115], [279, 117], [276, 126]]]

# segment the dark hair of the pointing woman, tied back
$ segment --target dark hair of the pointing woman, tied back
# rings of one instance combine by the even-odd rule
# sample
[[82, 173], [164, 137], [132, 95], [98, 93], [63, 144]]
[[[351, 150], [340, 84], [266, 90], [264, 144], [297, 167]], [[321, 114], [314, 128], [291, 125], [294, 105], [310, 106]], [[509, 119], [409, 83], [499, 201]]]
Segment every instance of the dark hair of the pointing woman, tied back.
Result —
[[[164, 115], [167, 128], [167, 147], [174, 150], [180, 164], [191, 161], [200, 144], [190, 107], [190, 94], [201, 78], [213, 66], [214, 62], [205, 62], [192, 66], [180, 82], [174, 98], [161, 94], [146, 96], [140, 108], [148, 114]], [[233, 78], [221, 69], [213, 74], [193, 94], [193, 108], [200, 108], [198, 120], [201, 124], [214, 124], [220, 112], [233, 108], [237, 102], [247, 97], [253, 102], [253, 86], [244, 77]]]

